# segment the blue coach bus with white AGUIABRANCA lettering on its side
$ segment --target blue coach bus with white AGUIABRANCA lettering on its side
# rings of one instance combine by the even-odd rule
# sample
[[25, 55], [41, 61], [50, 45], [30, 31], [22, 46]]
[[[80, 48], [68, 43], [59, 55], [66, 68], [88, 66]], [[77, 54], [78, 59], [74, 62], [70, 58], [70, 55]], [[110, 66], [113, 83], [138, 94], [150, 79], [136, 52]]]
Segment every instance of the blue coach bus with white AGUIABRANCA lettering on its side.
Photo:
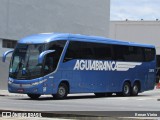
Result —
[[79, 34], [43, 33], [18, 41], [12, 53], [8, 90], [32, 99], [72, 93], [136, 96], [152, 90], [156, 52], [152, 45]]

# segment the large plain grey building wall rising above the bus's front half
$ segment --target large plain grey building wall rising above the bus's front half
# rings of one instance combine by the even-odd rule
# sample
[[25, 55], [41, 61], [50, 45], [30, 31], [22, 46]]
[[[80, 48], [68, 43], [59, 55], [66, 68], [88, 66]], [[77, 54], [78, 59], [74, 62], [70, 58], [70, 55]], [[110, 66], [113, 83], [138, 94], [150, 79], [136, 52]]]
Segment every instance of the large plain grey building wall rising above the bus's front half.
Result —
[[110, 0], [0, 0], [0, 38], [44, 32], [108, 36]]

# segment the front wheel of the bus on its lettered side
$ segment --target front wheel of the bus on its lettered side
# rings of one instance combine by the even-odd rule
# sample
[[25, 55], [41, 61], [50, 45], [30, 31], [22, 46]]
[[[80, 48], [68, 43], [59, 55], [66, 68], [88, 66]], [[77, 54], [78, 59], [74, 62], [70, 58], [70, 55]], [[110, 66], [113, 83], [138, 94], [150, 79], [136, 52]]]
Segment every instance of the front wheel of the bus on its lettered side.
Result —
[[65, 83], [61, 83], [58, 87], [57, 94], [54, 94], [53, 97], [56, 99], [65, 99], [68, 94], [68, 86]]

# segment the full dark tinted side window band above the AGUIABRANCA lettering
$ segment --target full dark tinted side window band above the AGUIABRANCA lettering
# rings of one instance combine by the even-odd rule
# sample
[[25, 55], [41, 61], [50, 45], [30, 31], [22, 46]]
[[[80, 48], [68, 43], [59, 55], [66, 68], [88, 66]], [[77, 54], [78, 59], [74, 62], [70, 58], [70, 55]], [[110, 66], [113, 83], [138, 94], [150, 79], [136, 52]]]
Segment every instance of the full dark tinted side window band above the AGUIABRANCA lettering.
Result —
[[154, 59], [151, 48], [71, 41], [64, 62], [72, 59], [144, 62]]

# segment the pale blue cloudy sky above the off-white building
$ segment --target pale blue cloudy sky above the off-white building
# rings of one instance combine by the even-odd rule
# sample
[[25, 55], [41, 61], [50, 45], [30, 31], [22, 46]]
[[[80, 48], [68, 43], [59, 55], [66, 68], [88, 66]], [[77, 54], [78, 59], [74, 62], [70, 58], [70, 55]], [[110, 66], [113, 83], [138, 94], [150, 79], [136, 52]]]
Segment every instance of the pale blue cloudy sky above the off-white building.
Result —
[[160, 0], [110, 0], [111, 20], [160, 19]]

